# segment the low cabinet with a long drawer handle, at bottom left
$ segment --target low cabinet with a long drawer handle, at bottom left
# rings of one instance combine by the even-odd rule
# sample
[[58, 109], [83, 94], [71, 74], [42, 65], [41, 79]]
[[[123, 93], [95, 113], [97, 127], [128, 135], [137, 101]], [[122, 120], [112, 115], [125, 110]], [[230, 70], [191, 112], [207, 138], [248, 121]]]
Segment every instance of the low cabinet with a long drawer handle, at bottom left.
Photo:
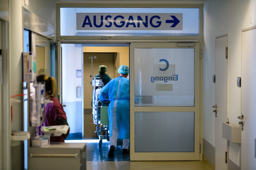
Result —
[[86, 170], [86, 143], [29, 147], [28, 170]]

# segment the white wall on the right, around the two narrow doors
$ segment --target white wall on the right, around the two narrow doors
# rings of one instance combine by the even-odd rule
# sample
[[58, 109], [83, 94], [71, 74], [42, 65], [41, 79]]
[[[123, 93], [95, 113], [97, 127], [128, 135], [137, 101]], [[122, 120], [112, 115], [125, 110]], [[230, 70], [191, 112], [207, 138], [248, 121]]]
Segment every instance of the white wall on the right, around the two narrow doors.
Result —
[[[203, 138], [215, 146], [215, 37], [228, 35], [228, 117], [238, 126], [241, 115], [241, 89], [236, 85], [241, 76], [241, 29], [256, 25], [255, 0], [205, 0], [204, 3], [204, 63], [203, 63]], [[250, 16], [253, 16], [250, 23]], [[223, 30], [221, 30], [223, 25]], [[229, 159], [239, 164], [239, 144], [230, 143]]]

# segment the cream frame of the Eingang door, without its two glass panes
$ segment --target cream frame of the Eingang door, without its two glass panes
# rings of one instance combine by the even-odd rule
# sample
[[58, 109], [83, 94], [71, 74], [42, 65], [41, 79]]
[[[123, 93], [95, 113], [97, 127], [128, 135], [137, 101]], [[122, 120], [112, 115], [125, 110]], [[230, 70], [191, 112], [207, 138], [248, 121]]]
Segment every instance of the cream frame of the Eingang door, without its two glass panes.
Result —
[[[135, 107], [135, 48], [194, 48], [195, 105], [193, 107]], [[130, 45], [130, 160], [200, 160], [200, 44], [178, 47], [177, 43], [131, 43]], [[135, 152], [135, 112], [194, 112], [194, 152]], [[145, 139], [150, 140], [150, 139]]]

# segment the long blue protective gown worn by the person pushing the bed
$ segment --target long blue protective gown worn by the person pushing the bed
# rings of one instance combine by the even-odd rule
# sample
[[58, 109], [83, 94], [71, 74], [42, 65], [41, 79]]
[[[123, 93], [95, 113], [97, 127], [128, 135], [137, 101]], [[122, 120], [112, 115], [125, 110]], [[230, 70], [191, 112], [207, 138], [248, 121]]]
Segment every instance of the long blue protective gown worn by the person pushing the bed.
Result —
[[116, 107], [117, 114], [121, 115], [121, 117], [118, 117], [116, 120], [119, 137], [120, 139], [129, 139], [129, 79], [121, 76], [112, 79], [101, 89], [99, 99], [104, 101], [107, 95], [109, 96], [109, 101], [111, 101], [108, 107], [109, 136], [112, 136], [111, 111]]

